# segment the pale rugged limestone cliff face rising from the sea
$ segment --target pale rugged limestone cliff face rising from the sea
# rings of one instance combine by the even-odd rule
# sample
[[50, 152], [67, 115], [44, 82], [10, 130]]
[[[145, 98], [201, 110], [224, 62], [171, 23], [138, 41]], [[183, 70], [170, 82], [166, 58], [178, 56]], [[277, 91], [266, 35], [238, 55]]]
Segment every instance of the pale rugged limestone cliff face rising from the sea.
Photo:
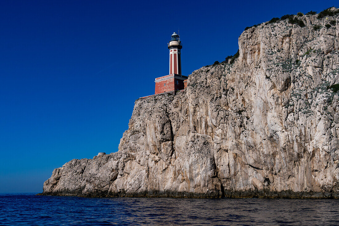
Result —
[[136, 100], [119, 151], [55, 169], [42, 194], [339, 197], [339, 14], [296, 17], [247, 29], [233, 63], [177, 95]]

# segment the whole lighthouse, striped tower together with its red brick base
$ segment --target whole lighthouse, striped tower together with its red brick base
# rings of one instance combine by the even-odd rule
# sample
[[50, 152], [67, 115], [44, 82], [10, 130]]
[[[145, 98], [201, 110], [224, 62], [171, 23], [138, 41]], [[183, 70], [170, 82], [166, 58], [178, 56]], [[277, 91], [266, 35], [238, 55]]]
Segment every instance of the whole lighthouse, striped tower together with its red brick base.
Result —
[[155, 94], [177, 92], [184, 89], [184, 80], [188, 77], [181, 74], [182, 44], [177, 33], [173, 33], [167, 43], [169, 49], [169, 75], [155, 79]]

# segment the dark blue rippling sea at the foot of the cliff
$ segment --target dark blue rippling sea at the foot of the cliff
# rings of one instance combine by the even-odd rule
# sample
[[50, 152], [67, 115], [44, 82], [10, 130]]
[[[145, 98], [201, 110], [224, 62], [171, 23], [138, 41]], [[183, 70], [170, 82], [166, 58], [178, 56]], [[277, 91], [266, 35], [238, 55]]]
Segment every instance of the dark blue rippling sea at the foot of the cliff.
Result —
[[0, 225], [339, 225], [339, 200], [0, 193]]

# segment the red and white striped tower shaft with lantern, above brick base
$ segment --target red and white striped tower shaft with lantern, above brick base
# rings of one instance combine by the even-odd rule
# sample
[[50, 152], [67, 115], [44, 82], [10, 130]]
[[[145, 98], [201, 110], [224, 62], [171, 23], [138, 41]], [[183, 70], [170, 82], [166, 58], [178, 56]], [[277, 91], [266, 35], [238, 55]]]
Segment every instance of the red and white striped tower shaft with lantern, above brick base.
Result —
[[168, 43], [169, 49], [169, 74], [181, 75], [181, 54], [182, 44], [177, 33], [173, 33]]

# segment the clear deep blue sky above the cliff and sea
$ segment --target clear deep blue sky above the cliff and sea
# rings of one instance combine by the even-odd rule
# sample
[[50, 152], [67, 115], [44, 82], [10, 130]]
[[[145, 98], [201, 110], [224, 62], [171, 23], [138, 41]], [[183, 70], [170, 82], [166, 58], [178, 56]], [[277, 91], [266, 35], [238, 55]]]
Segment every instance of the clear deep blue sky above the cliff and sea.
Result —
[[238, 50], [246, 26], [338, 1], [1, 1], [0, 192], [41, 192], [54, 168], [116, 152], [134, 101], [168, 74]]

